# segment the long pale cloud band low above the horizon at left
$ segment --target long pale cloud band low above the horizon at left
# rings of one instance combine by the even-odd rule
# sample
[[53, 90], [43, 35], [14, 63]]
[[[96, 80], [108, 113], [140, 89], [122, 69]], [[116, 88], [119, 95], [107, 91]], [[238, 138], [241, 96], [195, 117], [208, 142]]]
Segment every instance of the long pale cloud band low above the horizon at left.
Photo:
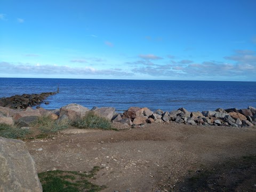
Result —
[[133, 73], [116, 69], [95, 69], [93, 67], [69, 67], [57, 65], [40, 65], [30, 63], [17, 63], [0, 62], [0, 74], [42, 74], [42, 75], [55, 75], [55, 74], [69, 74], [69, 75], [95, 75], [95, 76], [133, 76]]

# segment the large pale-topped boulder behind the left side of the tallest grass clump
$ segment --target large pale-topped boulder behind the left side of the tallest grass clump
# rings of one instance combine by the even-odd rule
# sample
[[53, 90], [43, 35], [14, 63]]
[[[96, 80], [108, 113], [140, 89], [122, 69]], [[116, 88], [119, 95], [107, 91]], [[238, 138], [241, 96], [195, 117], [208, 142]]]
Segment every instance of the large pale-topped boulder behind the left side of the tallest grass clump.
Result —
[[85, 116], [88, 111], [89, 109], [84, 106], [78, 105], [76, 103], [71, 103], [60, 108], [60, 117], [62, 115], [67, 115], [68, 119], [70, 119], [71, 121], [75, 121], [77, 118]]

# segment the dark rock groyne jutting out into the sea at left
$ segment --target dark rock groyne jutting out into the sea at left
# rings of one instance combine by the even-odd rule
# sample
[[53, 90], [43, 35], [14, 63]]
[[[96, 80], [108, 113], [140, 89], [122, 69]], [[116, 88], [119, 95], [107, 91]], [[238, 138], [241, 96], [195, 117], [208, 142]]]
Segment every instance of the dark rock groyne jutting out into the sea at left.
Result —
[[47, 92], [40, 94], [22, 94], [14, 95], [8, 98], [0, 99], [1, 107], [8, 107], [11, 109], [26, 109], [29, 106], [36, 106], [42, 103], [50, 95], [54, 95], [57, 92]]

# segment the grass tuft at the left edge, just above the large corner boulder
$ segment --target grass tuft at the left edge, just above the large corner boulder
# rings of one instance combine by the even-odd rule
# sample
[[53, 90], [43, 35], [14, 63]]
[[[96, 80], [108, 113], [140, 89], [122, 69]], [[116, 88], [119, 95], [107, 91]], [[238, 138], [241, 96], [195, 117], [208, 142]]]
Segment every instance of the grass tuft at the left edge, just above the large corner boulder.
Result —
[[2, 124], [2, 123], [0, 124], [0, 136], [4, 138], [11, 138], [11, 139], [25, 138], [25, 136], [29, 133], [30, 133], [30, 130], [27, 130], [27, 129], [20, 129], [16, 126]]

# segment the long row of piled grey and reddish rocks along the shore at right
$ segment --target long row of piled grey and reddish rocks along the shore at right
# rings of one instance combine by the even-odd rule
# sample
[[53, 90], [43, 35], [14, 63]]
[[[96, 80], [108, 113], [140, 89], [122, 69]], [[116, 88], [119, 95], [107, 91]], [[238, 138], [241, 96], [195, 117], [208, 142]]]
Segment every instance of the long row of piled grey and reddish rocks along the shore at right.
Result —
[[256, 108], [249, 106], [247, 109], [221, 109], [215, 111], [190, 112], [185, 108], [178, 110], [151, 111], [148, 108], [130, 107], [123, 114], [117, 114], [113, 122], [126, 123], [134, 128], [139, 128], [145, 123], [183, 123], [189, 125], [214, 125], [214, 126], [254, 126], [256, 125]]

